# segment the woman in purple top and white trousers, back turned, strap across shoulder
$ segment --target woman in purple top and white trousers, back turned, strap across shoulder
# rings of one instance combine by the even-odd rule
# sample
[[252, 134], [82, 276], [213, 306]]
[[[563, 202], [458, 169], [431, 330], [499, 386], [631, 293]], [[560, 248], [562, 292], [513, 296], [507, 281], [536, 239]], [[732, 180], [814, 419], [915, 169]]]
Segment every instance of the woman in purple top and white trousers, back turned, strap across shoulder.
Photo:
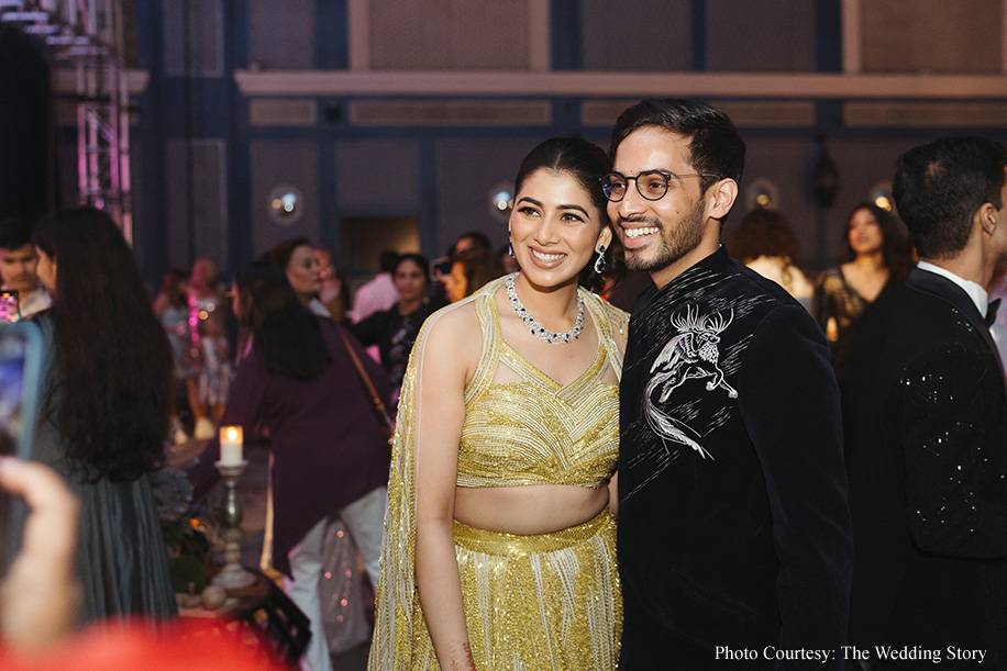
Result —
[[[247, 266], [237, 292], [241, 321], [253, 339], [222, 424], [269, 433], [273, 562], [285, 574], [285, 591], [311, 620], [303, 668], [323, 671], [331, 668], [319, 600], [327, 523], [345, 523], [376, 583], [387, 503], [387, 446], [347, 343], [386, 399], [387, 379], [348, 332], [301, 304], [274, 264]], [[219, 451], [214, 439], [200, 465], [197, 494], [207, 477], [213, 480]]]

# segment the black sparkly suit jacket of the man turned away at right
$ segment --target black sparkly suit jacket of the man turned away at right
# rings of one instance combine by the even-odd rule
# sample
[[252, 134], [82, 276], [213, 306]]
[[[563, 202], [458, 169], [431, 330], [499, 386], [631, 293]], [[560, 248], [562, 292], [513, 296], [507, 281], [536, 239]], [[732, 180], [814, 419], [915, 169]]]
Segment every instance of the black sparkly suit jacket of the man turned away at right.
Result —
[[[1007, 392], [967, 294], [915, 268], [864, 321], [848, 402], [857, 646], [1007, 667]], [[932, 668], [933, 662], [920, 662]], [[911, 664], [910, 664], [911, 667]]]

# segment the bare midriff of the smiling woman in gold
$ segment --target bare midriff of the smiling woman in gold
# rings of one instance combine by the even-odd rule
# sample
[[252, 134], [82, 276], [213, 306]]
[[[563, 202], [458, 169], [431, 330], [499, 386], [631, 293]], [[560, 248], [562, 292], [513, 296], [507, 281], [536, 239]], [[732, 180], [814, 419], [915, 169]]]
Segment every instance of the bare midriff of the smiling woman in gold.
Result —
[[507, 534], [547, 534], [587, 522], [608, 505], [609, 489], [533, 484], [455, 489], [454, 518]]

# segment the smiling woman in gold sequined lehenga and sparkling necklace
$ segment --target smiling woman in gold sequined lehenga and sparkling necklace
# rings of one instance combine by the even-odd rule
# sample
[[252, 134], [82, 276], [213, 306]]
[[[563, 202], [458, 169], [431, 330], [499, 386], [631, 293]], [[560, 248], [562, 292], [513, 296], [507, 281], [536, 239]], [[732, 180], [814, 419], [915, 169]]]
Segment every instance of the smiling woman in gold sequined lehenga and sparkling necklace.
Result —
[[578, 288], [610, 246], [609, 166], [583, 139], [533, 149], [509, 225], [521, 271], [423, 325], [399, 402], [373, 671], [616, 667], [627, 315]]

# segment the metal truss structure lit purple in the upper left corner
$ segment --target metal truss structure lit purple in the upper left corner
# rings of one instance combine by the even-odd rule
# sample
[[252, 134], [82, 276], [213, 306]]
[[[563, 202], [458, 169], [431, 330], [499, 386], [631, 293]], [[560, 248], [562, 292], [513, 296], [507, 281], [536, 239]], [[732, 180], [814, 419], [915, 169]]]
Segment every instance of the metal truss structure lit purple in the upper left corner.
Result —
[[75, 69], [80, 203], [107, 212], [132, 242], [121, 0], [0, 0], [0, 22], [36, 35], [53, 64]]

